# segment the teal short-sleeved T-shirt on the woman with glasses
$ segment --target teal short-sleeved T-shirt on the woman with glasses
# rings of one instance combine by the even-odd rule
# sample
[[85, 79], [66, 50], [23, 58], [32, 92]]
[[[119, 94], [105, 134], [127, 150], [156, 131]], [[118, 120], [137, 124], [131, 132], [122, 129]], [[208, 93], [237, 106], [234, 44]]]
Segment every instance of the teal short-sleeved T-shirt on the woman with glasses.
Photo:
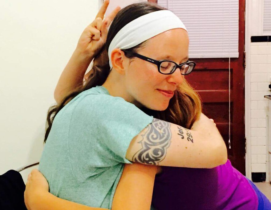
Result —
[[111, 209], [129, 144], [152, 120], [102, 86], [77, 95], [55, 116], [40, 160], [50, 192]]

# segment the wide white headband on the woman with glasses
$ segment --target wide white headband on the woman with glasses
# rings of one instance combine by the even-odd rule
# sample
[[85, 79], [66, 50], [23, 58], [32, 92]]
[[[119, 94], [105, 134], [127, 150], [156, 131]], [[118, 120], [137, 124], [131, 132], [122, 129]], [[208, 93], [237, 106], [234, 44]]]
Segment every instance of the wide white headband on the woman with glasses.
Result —
[[111, 52], [113, 49], [129, 49], [170, 29], [185, 28], [183, 22], [170, 10], [159, 10], [145, 14], [125, 25], [109, 45], [108, 57], [112, 69]]

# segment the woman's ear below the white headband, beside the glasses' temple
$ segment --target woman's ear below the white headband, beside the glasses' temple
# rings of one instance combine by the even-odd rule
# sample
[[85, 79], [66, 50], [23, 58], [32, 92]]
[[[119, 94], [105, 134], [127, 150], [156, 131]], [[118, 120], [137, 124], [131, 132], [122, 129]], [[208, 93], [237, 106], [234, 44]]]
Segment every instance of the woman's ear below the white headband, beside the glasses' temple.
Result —
[[124, 60], [127, 59], [124, 52], [118, 48], [113, 49], [111, 52], [111, 63], [113, 68], [121, 75], [125, 74]]

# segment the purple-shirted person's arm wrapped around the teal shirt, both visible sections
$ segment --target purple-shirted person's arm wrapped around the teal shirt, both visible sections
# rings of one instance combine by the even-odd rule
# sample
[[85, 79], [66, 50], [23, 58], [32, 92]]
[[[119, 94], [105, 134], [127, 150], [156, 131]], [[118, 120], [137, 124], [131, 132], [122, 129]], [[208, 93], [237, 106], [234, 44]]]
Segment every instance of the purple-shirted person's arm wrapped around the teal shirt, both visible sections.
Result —
[[[157, 172], [158, 166], [155, 165], [125, 164], [111, 209], [149, 210]], [[28, 210], [107, 210], [58, 198], [48, 192], [48, 183], [38, 170], [34, 169], [31, 174], [25, 191], [25, 203]]]

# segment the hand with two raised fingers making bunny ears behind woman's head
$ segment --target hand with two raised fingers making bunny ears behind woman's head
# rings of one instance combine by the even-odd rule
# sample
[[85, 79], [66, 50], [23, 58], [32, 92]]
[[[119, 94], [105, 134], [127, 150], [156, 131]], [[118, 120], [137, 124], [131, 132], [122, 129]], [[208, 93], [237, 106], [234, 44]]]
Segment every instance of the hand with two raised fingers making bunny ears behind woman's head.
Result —
[[108, 5], [109, 0], [105, 0], [103, 6], [96, 15], [95, 20], [84, 29], [79, 38], [76, 50], [83, 53], [85, 56], [95, 57], [106, 42], [108, 26], [120, 10], [119, 6], [116, 7], [115, 10], [103, 20]]

